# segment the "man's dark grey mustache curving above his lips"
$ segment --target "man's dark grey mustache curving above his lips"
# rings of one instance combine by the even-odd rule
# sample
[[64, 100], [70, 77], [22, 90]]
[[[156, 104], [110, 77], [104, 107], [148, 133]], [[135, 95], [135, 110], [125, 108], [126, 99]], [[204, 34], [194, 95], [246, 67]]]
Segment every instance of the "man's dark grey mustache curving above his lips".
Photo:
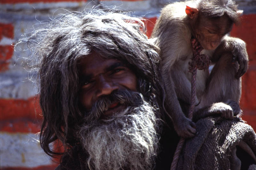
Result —
[[85, 113], [84, 118], [87, 121], [99, 120], [100, 116], [106, 112], [112, 103], [120, 103], [126, 106], [138, 107], [144, 102], [143, 95], [139, 92], [124, 90], [115, 90], [109, 95], [101, 96], [92, 108]]

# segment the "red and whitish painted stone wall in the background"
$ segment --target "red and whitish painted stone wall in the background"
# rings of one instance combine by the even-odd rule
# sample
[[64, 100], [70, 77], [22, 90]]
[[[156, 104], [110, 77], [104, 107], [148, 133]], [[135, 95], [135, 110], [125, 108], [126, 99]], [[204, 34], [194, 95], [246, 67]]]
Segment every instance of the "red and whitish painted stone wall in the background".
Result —
[[[148, 36], [152, 32], [160, 9], [168, 0], [0, 0], [0, 169], [54, 169], [58, 159], [51, 160], [38, 143], [40, 108], [36, 98], [35, 79], [30, 63], [18, 56], [13, 44], [33, 26], [46, 22], [59, 13], [116, 6], [131, 15], [148, 19]], [[241, 108], [243, 119], [256, 129], [256, 1], [236, 1], [244, 10], [240, 26], [232, 36], [247, 43], [250, 66], [243, 76]], [[54, 147], [54, 146], [52, 146]]]

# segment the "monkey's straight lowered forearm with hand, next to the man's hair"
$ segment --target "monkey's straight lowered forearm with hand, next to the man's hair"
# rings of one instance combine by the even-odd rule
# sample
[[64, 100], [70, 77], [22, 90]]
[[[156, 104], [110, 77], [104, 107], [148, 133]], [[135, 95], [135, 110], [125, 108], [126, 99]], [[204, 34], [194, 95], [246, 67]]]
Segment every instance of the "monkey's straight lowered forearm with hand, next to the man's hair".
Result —
[[196, 125], [182, 112], [171, 76], [165, 78], [165, 85], [167, 93], [167, 106], [165, 108], [172, 119], [174, 129], [180, 137], [187, 138], [195, 136]]

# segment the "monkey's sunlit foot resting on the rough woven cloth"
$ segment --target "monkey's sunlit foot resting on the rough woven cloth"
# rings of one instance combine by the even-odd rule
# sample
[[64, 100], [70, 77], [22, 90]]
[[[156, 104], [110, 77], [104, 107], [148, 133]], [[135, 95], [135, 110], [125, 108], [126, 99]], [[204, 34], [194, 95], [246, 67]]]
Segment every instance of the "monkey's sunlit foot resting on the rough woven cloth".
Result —
[[196, 122], [201, 118], [213, 115], [220, 115], [226, 119], [233, 119], [233, 116], [240, 116], [241, 112], [238, 103], [233, 100], [228, 100], [226, 102], [213, 103], [208, 107], [203, 107], [197, 110], [196, 113], [193, 114], [193, 121]]

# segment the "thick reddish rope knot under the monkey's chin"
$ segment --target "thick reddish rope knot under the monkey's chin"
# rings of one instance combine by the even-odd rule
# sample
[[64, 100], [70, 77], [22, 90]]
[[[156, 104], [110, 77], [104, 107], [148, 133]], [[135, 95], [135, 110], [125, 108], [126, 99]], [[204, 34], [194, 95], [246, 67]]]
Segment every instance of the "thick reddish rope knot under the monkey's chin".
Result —
[[189, 62], [188, 70], [193, 73], [196, 69], [198, 70], [206, 70], [209, 68], [211, 61], [209, 57], [205, 54], [200, 54], [203, 50], [203, 47], [200, 43], [195, 39], [191, 39], [193, 57], [192, 62]]

